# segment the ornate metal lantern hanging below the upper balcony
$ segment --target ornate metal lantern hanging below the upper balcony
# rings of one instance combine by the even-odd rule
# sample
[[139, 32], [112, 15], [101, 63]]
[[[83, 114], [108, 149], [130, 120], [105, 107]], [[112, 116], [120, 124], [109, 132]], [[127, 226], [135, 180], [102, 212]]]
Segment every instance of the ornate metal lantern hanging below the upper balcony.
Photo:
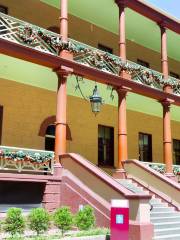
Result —
[[96, 115], [100, 112], [100, 108], [102, 105], [102, 97], [99, 96], [97, 85], [95, 85], [93, 90], [93, 95], [89, 97], [91, 103], [91, 110]]

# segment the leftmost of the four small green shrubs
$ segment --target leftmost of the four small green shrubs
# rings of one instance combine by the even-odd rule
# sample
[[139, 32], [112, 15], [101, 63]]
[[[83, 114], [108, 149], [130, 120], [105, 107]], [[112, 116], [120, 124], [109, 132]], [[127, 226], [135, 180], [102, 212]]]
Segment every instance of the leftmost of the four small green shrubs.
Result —
[[22, 209], [9, 208], [4, 221], [4, 229], [12, 236], [22, 234], [25, 229], [25, 220], [22, 216]]

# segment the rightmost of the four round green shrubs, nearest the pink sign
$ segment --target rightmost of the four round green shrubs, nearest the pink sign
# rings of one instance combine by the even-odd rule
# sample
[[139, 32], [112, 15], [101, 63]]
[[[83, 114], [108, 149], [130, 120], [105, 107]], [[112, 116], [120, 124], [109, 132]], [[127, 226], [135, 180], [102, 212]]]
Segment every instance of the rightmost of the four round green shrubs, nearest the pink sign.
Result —
[[95, 215], [92, 207], [86, 205], [79, 210], [75, 217], [76, 226], [79, 230], [88, 230], [95, 225]]

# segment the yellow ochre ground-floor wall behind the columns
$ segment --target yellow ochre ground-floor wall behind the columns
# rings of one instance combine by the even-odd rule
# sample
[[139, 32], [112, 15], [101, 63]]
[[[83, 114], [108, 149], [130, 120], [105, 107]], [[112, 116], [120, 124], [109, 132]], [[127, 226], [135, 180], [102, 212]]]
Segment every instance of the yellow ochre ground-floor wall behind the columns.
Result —
[[[38, 87], [0, 79], [0, 103], [4, 107], [2, 145], [44, 149], [38, 135], [44, 119], [55, 115], [56, 93]], [[115, 165], [117, 162], [117, 108], [103, 105], [96, 117], [81, 98], [68, 96], [67, 119], [72, 141], [67, 151], [82, 154], [97, 164], [98, 124], [114, 127]], [[153, 160], [162, 162], [162, 119], [127, 111], [129, 158], [138, 159], [138, 133], [152, 134]], [[173, 138], [180, 139], [180, 124], [172, 121]]]

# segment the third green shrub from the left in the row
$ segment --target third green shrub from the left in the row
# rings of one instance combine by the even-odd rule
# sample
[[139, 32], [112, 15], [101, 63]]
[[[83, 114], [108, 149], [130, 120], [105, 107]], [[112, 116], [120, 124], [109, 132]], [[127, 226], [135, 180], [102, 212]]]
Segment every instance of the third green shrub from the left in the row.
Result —
[[54, 213], [54, 223], [61, 229], [62, 235], [64, 232], [71, 229], [73, 224], [73, 215], [70, 212], [69, 207], [58, 208]]

